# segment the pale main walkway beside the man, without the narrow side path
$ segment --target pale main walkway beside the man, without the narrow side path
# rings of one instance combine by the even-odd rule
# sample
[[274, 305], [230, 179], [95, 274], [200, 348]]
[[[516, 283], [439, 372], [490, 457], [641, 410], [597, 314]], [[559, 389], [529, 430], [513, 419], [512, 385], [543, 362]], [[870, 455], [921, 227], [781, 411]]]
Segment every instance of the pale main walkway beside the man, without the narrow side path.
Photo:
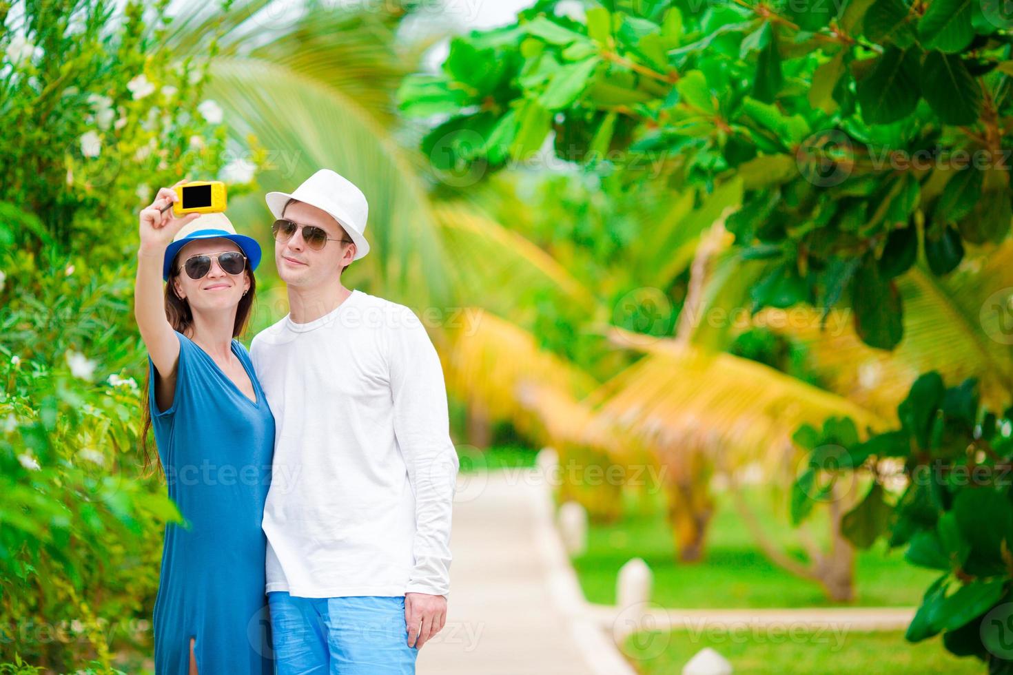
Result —
[[459, 476], [447, 624], [419, 675], [632, 673], [587, 611], [539, 476]]

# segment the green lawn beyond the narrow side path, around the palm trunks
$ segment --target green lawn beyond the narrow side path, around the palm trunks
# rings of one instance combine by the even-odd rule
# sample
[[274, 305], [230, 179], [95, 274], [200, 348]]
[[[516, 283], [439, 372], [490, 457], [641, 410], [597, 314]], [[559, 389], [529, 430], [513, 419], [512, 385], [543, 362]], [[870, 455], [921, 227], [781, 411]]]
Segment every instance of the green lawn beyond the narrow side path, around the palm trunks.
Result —
[[[776, 540], [790, 542], [796, 532], [778, 497], [753, 491], [754, 510]], [[660, 506], [646, 515], [630, 515], [613, 525], [592, 525], [588, 552], [573, 560], [585, 595], [592, 602], [615, 602], [616, 575], [629, 559], [642, 558], [654, 573], [652, 599], [665, 607], [811, 607], [832, 606], [814, 582], [795, 577], [771, 563], [759, 550], [727, 495], [717, 495], [717, 513], [708, 535], [706, 558], [680, 564]], [[778, 510], [780, 509], [780, 512]], [[822, 522], [817, 512], [815, 522]], [[825, 520], [823, 520], [825, 522]], [[817, 530], [813, 529], [813, 535]], [[821, 529], [819, 531], [826, 531]], [[794, 540], [797, 540], [796, 538]], [[801, 550], [793, 550], [801, 556]], [[932, 570], [906, 563], [903, 549], [887, 552], [882, 541], [859, 552], [855, 561], [854, 605], [917, 606], [936, 578]]]

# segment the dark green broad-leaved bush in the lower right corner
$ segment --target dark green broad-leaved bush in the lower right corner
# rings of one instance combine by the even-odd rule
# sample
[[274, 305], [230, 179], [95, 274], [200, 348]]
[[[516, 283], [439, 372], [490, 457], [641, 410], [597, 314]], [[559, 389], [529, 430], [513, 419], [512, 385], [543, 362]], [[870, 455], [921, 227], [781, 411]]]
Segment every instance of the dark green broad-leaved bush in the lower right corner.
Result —
[[[832, 498], [829, 486], [868, 474], [865, 497], [842, 520], [852, 543], [880, 536], [905, 546], [913, 565], [940, 571], [926, 591], [907, 638], [943, 634], [946, 648], [975, 656], [990, 673], [1013, 672], [1013, 408], [980, 409], [977, 383], [946, 388], [936, 372], [922, 375], [898, 408], [901, 427], [858, 441], [847, 419], [822, 430], [802, 427], [808, 448], [793, 486], [792, 517]], [[894, 497], [897, 489], [901, 494]]]

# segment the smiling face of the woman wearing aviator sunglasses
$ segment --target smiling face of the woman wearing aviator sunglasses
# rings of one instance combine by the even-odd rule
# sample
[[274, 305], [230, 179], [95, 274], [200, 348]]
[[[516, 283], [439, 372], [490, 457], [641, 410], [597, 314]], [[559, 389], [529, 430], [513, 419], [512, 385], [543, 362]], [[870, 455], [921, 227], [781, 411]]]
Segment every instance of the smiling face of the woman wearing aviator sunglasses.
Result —
[[[173, 278], [173, 288], [181, 300], [189, 303], [191, 312], [220, 312], [234, 310], [249, 288], [248, 269], [238, 274], [229, 274], [215, 257], [226, 251], [242, 249], [228, 239], [200, 239], [186, 244], [176, 256], [176, 276]], [[186, 259], [196, 255], [212, 256], [211, 268], [200, 279], [191, 279], [183, 269]], [[247, 264], [249, 261], [247, 261]]]

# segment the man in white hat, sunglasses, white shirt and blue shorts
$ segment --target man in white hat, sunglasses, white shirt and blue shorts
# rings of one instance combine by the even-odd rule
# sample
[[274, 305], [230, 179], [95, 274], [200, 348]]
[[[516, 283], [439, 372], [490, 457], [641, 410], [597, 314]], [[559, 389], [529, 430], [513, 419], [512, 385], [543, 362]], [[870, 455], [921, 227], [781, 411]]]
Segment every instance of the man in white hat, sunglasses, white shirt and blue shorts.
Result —
[[408, 308], [341, 284], [368, 203], [320, 169], [268, 192], [290, 313], [251, 345], [275, 414], [264, 505], [279, 675], [413, 673], [447, 616], [457, 452], [443, 370]]

